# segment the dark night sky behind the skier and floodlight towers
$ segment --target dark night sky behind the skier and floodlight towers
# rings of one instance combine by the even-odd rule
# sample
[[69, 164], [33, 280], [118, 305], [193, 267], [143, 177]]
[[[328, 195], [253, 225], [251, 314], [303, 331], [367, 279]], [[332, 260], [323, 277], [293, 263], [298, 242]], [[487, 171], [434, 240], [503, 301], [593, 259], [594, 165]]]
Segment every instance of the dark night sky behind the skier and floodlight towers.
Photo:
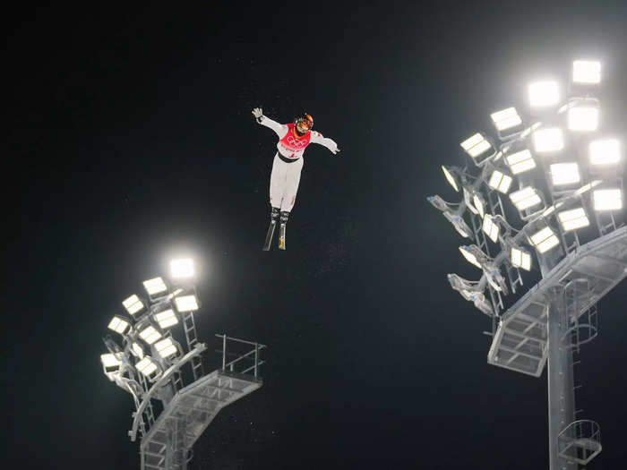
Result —
[[[269, 346], [264, 387], [219, 415], [191, 468], [546, 468], [545, 375], [486, 363], [488, 321], [445, 278], [471, 272], [460, 238], [425, 196], [451, 198], [439, 165], [460, 139], [579, 54], [604, 61], [606, 129], [624, 137], [626, 18], [623, 1], [5, 17], [6, 467], [139, 468], [100, 338], [186, 249], [210, 349], [218, 332]], [[307, 150], [287, 252], [260, 250], [276, 141], [255, 106], [306, 110], [342, 149]], [[624, 294], [581, 358], [578, 405], [603, 432], [590, 469], [627, 457]]]

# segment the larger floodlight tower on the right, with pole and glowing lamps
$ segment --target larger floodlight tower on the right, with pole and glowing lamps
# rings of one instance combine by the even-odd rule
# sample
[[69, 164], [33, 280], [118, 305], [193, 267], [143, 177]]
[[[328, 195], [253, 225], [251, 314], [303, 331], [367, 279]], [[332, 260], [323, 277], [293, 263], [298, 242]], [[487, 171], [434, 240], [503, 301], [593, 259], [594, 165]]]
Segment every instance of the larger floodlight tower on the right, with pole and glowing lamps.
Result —
[[[600, 71], [574, 61], [565, 98], [557, 81], [532, 83], [528, 119], [514, 107], [493, 113], [497, 139], [477, 132], [461, 142], [473, 165], [442, 167], [460, 203], [427, 198], [474, 242], [460, 252], [481, 278], [448, 278], [492, 319], [488, 363], [535, 377], [548, 363], [551, 470], [585, 466], [601, 451], [598, 424], [575, 408], [573, 355], [597, 336], [597, 303], [627, 275], [622, 150], [600, 130]], [[520, 228], [508, 222], [516, 211], [505, 195]], [[523, 293], [533, 252], [539, 276]]]

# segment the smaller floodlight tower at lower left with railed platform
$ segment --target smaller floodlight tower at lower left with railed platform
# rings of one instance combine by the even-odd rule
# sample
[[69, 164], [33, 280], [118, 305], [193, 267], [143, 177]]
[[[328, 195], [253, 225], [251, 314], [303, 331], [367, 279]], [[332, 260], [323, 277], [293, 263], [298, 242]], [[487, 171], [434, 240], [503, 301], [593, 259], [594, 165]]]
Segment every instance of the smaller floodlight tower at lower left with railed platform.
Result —
[[198, 342], [193, 318], [201, 306], [193, 261], [170, 266], [169, 278], [143, 281], [145, 297], [125, 299], [126, 314], [116, 313], [108, 323], [118, 339], [104, 338], [108, 353], [100, 356], [107, 378], [133, 397], [128, 435], [141, 438], [142, 470], [185, 470], [193, 443], [219, 410], [262, 387], [265, 346], [252, 341], [216, 335], [221, 364], [204, 373], [207, 346]]

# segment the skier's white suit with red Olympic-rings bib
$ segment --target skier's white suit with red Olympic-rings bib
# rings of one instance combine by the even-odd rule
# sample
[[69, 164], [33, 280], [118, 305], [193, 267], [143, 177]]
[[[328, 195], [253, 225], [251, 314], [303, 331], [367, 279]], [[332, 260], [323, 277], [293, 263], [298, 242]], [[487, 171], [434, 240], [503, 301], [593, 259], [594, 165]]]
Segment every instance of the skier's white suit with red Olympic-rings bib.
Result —
[[279, 136], [277, 154], [274, 156], [270, 176], [270, 204], [273, 208], [279, 208], [281, 212], [289, 212], [296, 201], [300, 172], [304, 163], [303, 154], [307, 145], [318, 143], [337, 153], [338, 144], [322, 137], [320, 132], [309, 131], [298, 136], [294, 124], [279, 124], [266, 115], [261, 115], [256, 121], [270, 127]]

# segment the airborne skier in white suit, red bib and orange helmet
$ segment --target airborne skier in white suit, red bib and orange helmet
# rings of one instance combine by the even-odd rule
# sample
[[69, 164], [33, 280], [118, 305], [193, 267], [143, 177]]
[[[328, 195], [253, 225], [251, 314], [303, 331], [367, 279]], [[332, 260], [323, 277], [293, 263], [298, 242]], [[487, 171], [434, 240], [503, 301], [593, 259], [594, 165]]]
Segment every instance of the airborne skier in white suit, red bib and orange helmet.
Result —
[[322, 137], [320, 132], [312, 132], [314, 118], [306, 113], [296, 117], [293, 124], [279, 124], [272, 121], [270, 117], [263, 115], [261, 107], [253, 109], [253, 116], [258, 124], [270, 127], [279, 136], [277, 154], [274, 156], [270, 176], [270, 205], [272, 207], [270, 226], [263, 250], [270, 250], [277, 220], [280, 220], [279, 249], [285, 250], [285, 228], [288, 223], [289, 212], [294, 208], [296, 201], [305, 148], [310, 143], [318, 143], [331, 150], [333, 154], [337, 154], [339, 152], [338, 144], [331, 139]]

